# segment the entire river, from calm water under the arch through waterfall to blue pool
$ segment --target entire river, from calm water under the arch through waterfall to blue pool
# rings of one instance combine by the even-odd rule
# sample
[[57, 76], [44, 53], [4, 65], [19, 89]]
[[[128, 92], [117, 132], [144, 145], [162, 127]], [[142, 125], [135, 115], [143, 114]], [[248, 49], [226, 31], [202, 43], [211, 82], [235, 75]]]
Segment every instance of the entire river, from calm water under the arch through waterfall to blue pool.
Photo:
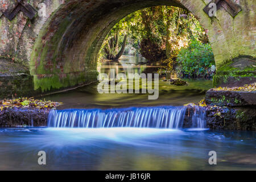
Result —
[[[101, 73], [150, 73], [159, 67], [123, 56]], [[44, 96], [63, 102], [48, 127], [0, 129], [0, 170], [249, 170], [256, 169], [254, 131], [211, 131], [203, 113], [182, 127], [184, 104], [199, 102], [211, 80], [187, 86], [159, 82], [159, 99], [147, 94], [99, 94], [97, 83]], [[129, 107], [129, 108], [126, 108]], [[38, 152], [46, 152], [46, 165]], [[209, 152], [217, 154], [210, 165]]]

